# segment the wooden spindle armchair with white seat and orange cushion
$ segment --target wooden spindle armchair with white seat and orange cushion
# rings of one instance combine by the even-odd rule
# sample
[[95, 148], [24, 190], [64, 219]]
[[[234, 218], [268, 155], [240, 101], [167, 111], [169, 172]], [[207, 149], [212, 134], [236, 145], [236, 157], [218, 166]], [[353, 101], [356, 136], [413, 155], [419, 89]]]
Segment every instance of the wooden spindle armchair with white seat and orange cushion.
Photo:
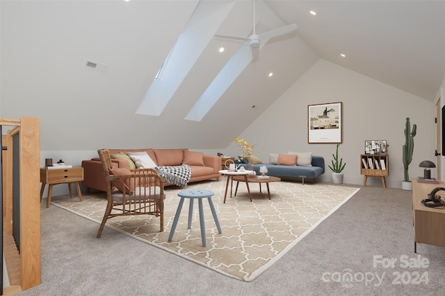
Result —
[[116, 216], [154, 215], [160, 221], [160, 232], [164, 230], [163, 180], [152, 168], [129, 170], [113, 168], [108, 149], [97, 150], [106, 179], [108, 204], [97, 232], [100, 238], [106, 220]]

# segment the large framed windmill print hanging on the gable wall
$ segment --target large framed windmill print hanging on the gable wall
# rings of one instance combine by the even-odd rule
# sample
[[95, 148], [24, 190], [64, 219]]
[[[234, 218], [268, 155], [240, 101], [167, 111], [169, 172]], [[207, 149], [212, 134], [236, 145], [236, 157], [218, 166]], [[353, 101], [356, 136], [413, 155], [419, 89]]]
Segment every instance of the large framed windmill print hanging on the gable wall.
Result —
[[341, 143], [342, 102], [307, 106], [307, 143]]

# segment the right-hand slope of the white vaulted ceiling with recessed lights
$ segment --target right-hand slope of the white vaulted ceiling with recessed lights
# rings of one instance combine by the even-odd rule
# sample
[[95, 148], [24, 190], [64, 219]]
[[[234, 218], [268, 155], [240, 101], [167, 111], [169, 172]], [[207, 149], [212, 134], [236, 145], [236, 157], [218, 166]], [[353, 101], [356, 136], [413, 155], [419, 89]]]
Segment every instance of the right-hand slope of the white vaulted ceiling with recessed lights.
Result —
[[445, 73], [445, 1], [265, 2], [321, 58], [435, 100]]

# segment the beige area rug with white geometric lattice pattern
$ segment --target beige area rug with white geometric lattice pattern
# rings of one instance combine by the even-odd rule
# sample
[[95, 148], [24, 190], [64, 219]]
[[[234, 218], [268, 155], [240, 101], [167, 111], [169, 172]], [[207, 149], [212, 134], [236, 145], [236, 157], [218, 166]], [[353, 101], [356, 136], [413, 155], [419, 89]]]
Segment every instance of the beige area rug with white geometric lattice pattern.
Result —
[[[245, 184], [240, 183], [236, 197], [227, 196], [224, 204], [225, 183], [223, 177], [219, 182], [191, 183], [186, 187], [215, 193], [211, 199], [223, 233], [218, 234], [209, 202], [204, 199], [207, 247], [202, 247], [197, 201], [191, 229], [187, 229], [188, 199], [182, 207], [172, 241], [168, 242], [180, 199], [177, 193], [184, 190], [179, 187], [165, 189], [164, 232], [159, 232], [159, 218], [154, 216], [111, 218], [106, 227], [228, 277], [252, 281], [359, 191], [348, 186], [282, 181], [270, 183], [271, 199], [268, 200], [266, 186], [263, 185], [260, 193], [259, 184], [250, 184], [250, 202]], [[67, 195], [51, 204], [100, 223], [106, 208], [106, 195], [85, 195], [83, 202]], [[102, 236], [106, 235], [105, 229]]]

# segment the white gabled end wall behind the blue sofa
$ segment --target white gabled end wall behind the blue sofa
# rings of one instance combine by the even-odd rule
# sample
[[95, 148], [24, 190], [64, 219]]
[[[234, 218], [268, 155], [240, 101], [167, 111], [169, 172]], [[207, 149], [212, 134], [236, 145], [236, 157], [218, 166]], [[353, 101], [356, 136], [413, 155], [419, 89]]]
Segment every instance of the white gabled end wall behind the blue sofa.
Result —
[[[435, 160], [434, 103], [385, 85], [326, 60], [318, 60], [249, 128], [238, 136], [256, 143], [254, 155], [268, 162], [269, 153], [312, 151], [325, 157], [326, 171], [320, 178], [330, 182], [330, 164], [335, 144], [307, 143], [307, 105], [343, 102], [343, 144], [339, 154], [346, 162], [344, 182], [362, 184], [360, 154], [365, 140], [387, 140], [389, 144], [389, 177], [387, 186], [401, 188], [403, 180], [402, 146], [405, 118], [416, 123], [414, 155], [410, 177], [423, 175], [422, 160]], [[223, 151], [239, 155], [232, 143]], [[435, 169], [432, 177], [437, 176]], [[378, 178], [369, 178], [368, 185], [382, 186]]]

